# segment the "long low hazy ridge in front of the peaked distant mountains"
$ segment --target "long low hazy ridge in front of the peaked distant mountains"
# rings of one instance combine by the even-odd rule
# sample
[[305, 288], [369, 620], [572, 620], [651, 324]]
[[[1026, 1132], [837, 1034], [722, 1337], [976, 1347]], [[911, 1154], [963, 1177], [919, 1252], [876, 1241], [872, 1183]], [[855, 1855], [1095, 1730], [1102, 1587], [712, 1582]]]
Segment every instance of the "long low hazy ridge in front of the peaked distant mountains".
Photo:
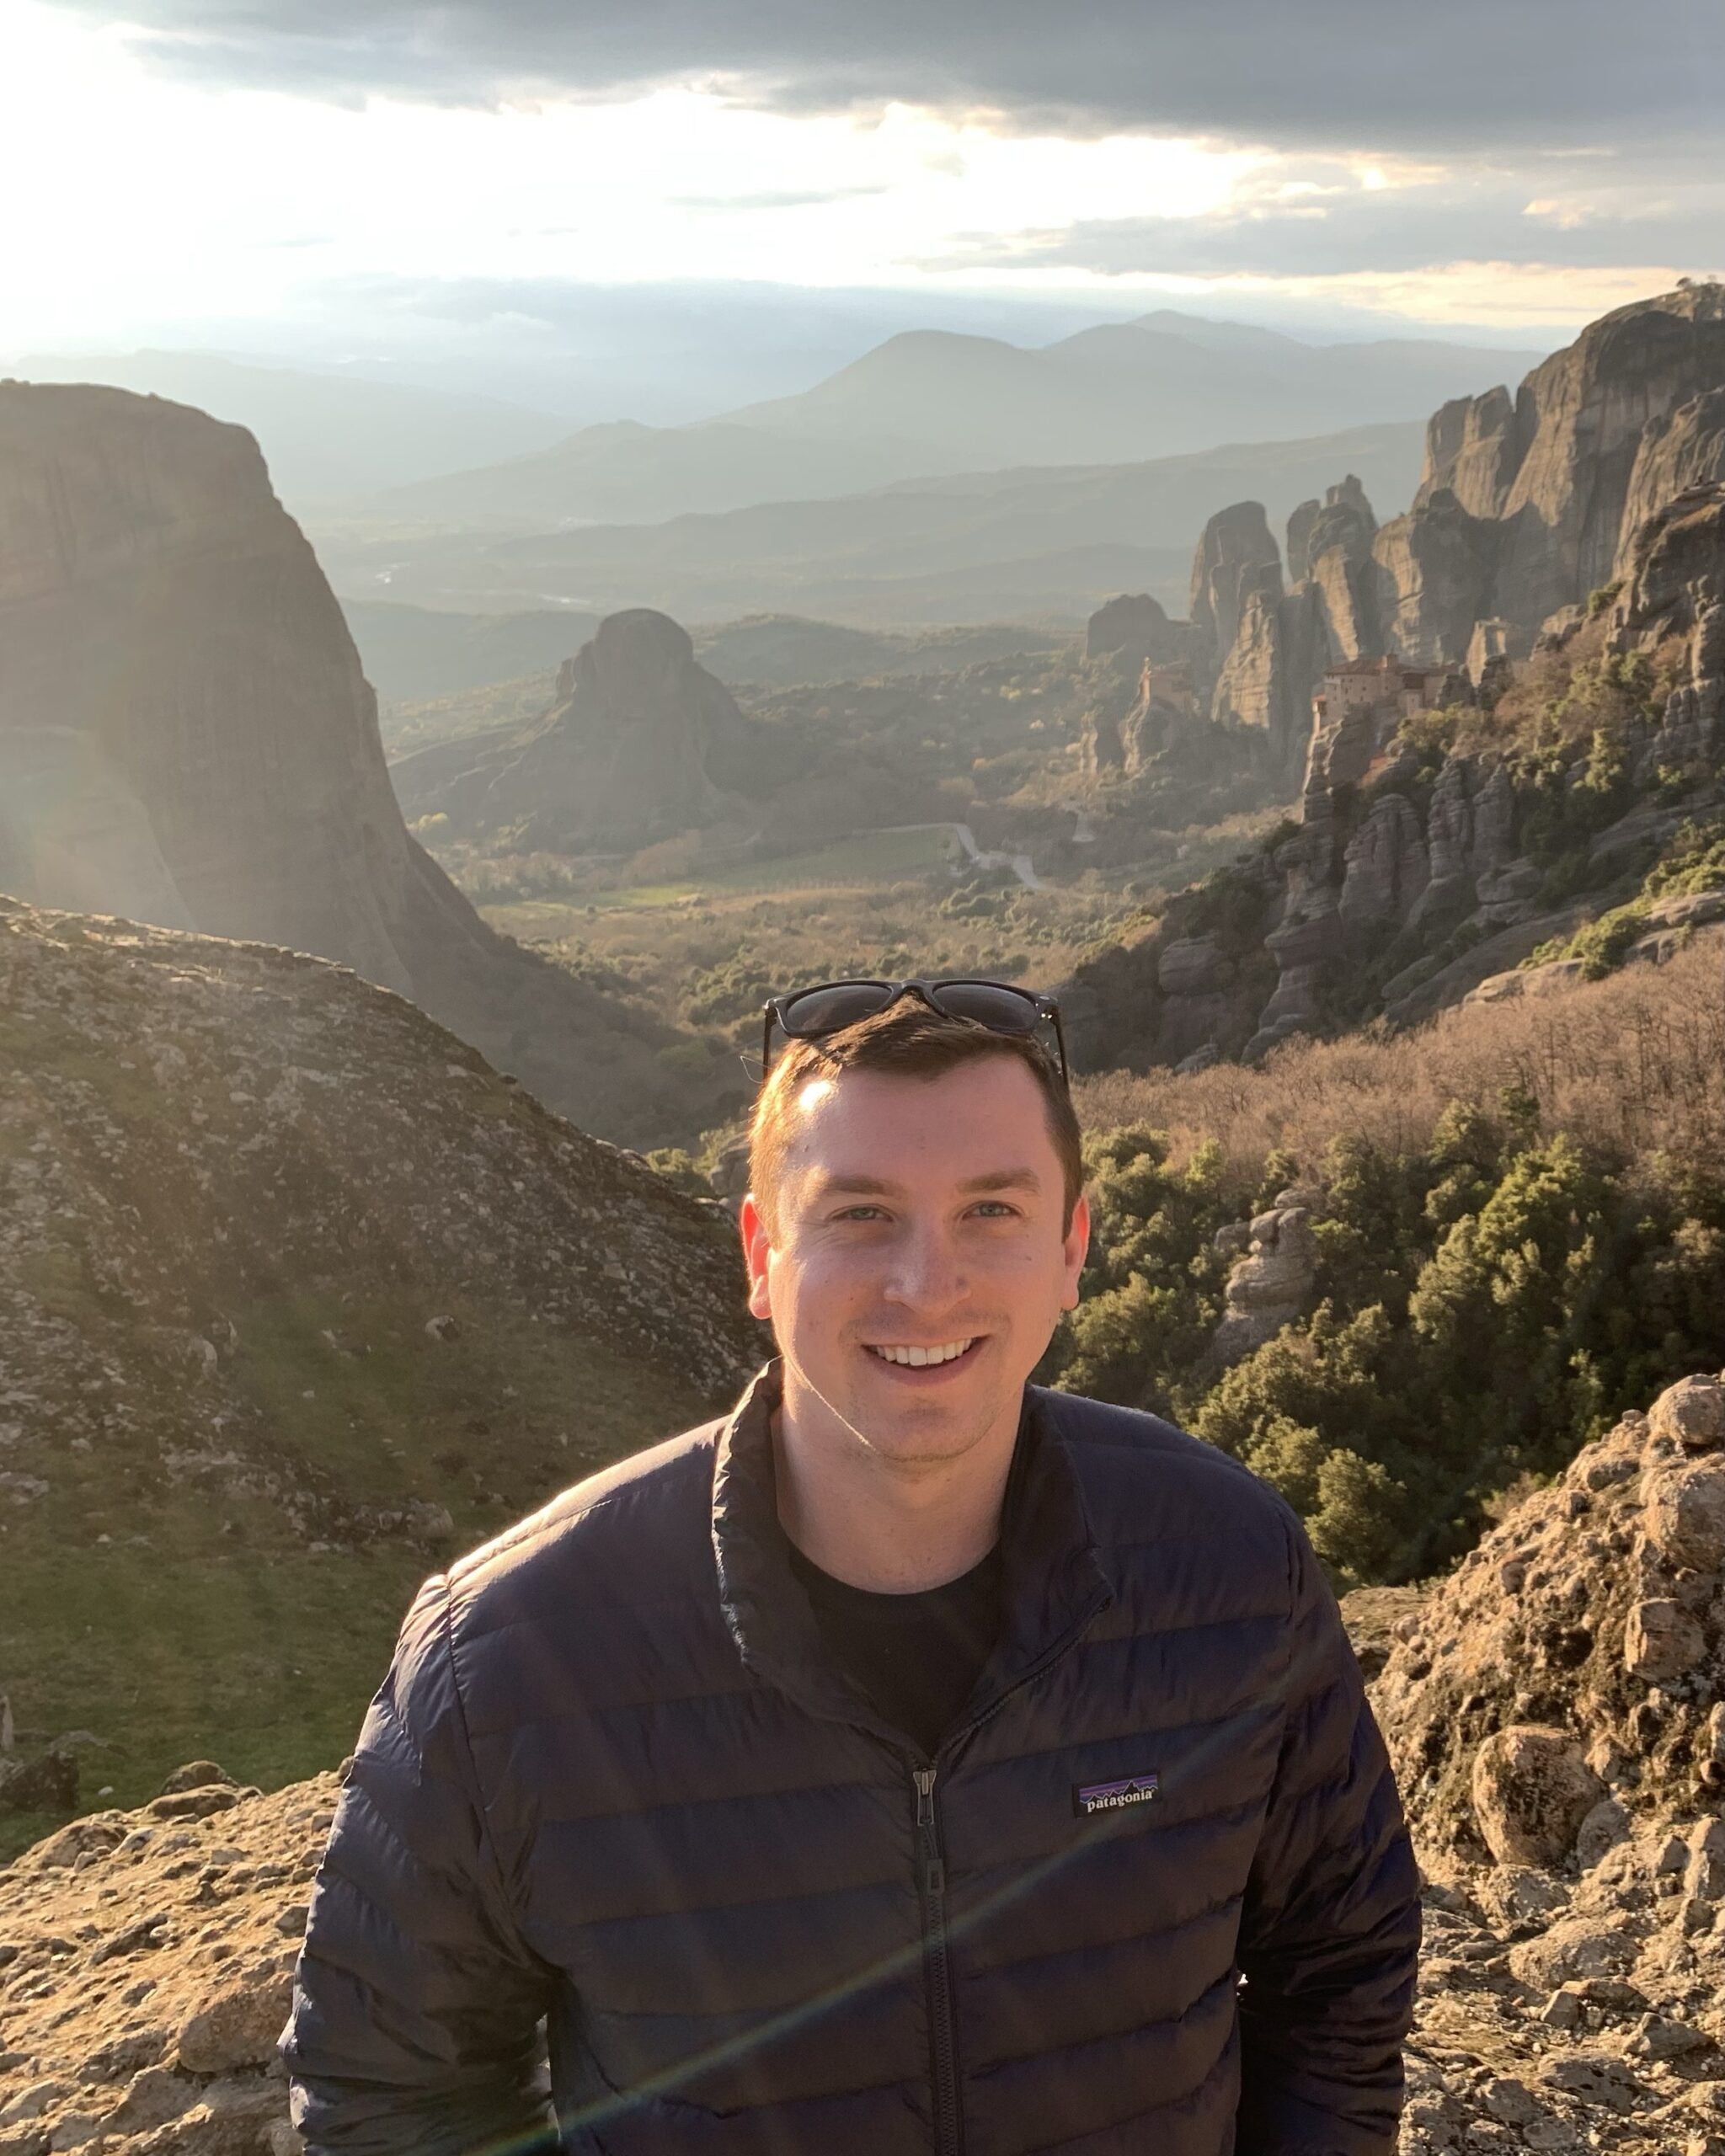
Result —
[[345, 599], [468, 612], [548, 604], [584, 614], [656, 606], [686, 623], [753, 612], [854, 627], [944, 621], [1078, 623], [1117, 591], [1186, 612], [1192, 543], [1227, 502], [1272, 520], [1356, 472], [1399, 507], [1421, 468], [1414, 420], [1298, 442], [1246, 442], [1141, 464], [955, 472], [828, 500], [759, 502], [662, 524], [552, 533], [319, 524]]

